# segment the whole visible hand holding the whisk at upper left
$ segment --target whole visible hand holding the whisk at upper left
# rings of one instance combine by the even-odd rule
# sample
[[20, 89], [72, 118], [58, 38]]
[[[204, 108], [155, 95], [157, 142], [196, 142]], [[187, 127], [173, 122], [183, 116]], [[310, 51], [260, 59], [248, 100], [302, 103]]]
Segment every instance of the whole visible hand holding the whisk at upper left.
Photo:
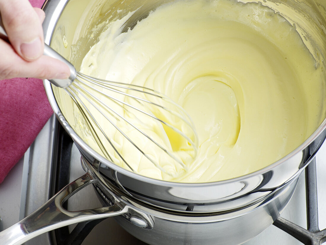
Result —
[[69, 77], [65, 63], [43, 55], [43, 10], [33, 8], [28, 0], [0, 0], [0, 13], [10, 42], [0, 39], [0, 80]]

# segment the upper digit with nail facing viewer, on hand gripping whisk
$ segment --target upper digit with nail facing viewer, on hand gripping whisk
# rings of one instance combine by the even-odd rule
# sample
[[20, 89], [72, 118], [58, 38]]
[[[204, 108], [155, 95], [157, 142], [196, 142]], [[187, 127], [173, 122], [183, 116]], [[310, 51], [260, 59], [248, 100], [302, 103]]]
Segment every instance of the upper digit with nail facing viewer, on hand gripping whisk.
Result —
[[43, 54], [44, 38], [39, 14], [28, 0], [0, 0], [8, 39], [23, 59], [33, 61]]

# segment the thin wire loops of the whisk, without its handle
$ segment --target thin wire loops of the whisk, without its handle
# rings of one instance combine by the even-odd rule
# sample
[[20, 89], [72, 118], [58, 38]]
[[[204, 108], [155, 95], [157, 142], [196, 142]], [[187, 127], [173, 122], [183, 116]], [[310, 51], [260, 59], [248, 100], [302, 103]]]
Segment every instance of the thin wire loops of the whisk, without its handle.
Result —
[[[123, 138], [127, 140], [127, 142], [129, 142], [133, 147], [135, 147], [135, 149], [140, 152], [141, 156], [144, 156], [146, 159], [148, 159], [148, 161], [154, 164], [154, 166], [158, 168], [162, 173], [166, 173], [170, 176], [175, 177], [180, 171], [178, 170], [179, 168], [175, 164], [170, 165], [171, 162], [165, 158], [164, 162], [162, 163], [168, 164], [168, 166], [161, 166], [162, 163], [160, 164], [159, 162], [157, 162], [158, 160], [155, 161], [152, 157], [149, 156], [149, 154], [147, 154], [143, 149], [141, 149], [141, 146], [135, 143], [138, 142], [139, 139], [137, 138], [138, 136], [136, 136], [137, 134], [133, 134], [139, 132], [140, 135], [145, 136], [150, 142], [156, 145], [155, 147], [158, 147], [167, 156], [169, 156], [171, 160], [179, 164], [184, 171], [187, 171], [188, 166], [183, 162], [183, 158], [180, 158], [180, 156], [177, 157], [173, 150], [173, 147], [179, 146], [172, 146], [172, 143], [170, 142], [168, 143], [171, 144], [170, 146], [164, 147], [163, 145], [158, 143], [158, 141], [154, 138], [156, 137], [156, 134], [150, 136], [152, 134], [149, 135], [145, 133], [145, 131], [138, 127], [138, 124], [135, 122], [138, 121], [138, 123], [145, 125], [147, 129], [146, 122], [149, 122], [149, 125], [151, 125], [151, 122], [154, 122], [152, 121], [152, 119], [154, 119], [157, 123], [159, 123], [159, 128], [162, 128], [162, 126], [168, 127], [169, 130], [173, 130], [174, 133], [179, 134], [179, 136], [177, 137], [181, 136], [183, 138], [182, 142], [186, 140], [188, 145], [186, 146], [186, 148], [184, 148], [185, 150], [190, 150], [190, 148], [188, 147], [189, 145], [192, 146], [193, 151], [191, 150], [188, 153], [191, 157], [195, 157], [197, 155], [196, 144], [198, 142], [198, 137], [196, 131], [193, 128], [193, 122], [191, 121], [190, 116], [184, 111], [181, 106], [176, 104], [174, 101], [170, 100], [165, 95], [153, 89], [144, 88], [135, 84], [123, 84], [119, 82], [111, 82], [96, 79], [77, 72], [75, 80], [69, 86], [64, 88], [64, 90], [69, 94], [69, 96], [72, 98], [72, 100], [75, 102], [78, 109], [82, 113], [85, 122], [89, 126], [89, 129], [95, 141], [97, 142], [97, 145], [99, 146], [100, 150], [103, 152], [104, 156], [107, 157], [113, 163], [115, 162], [115, 160], [121, 160], [131, 171], [137, 172], [140, 170], [139, 167], [137, 170], [131, 167], [131, 165], [128, 163], [129, 160], [126, 160], [130, 159], [129, 157], [124, 158], [122, 156], [123, 153], [120, 152], [118, 149], [120, 147], [120, 143], [110, 140], [110, 137], [105, 132], [105, 130], [109, 129], [106, 128], [107, 124], [105, 124], [105, 128], [103, 128], [104, 125], [101, 125], [102, 122], [97, 121], [95, 115], [92, 114], [94, 109], [94, 112], [96, 112], [96, 116], [97, 113], [99, 113], [98, 115], [103, 116], [103, 119], [105, 118], [105, 122], [110, 123], [110, 125], [113, 127], [112, 129], [117, 130], [116, 132], [119, 132], [123, 136]], [[150, 98], [149, 96], [153, 96], [153, 99], [155, 100], [148, 100], [147, 97]], [[109, 100], [112, 101], [113, 104], [111, 104], [111, 102], [108, 104], [107, 102]], [[138, 104], [134, 105], [134, 101], [136, 101]], [[171, 106], [173, 107], [172, 110], [169, 108]], [[121, 110], [123, 110], [123, 113], [121, 113], [120, 108]], [[128, 116], [126, 117], [123, 114]], [[145, 117], [143, 118], [143, 116], [139, 115], [146, 115], [147, 119], [144, 120]], [[134, 118], [137, 121], [129, 120], [128, 117]], [[160, 117], [163, 117], [164, 119]], [[147, 121], [149, 118], [151, 118], [151, 120]], [[175, 124], [176, 126], [174, 126], [167, 120], [172, 120], [172, 123], [176, 122], [178, 124]], [[127, 127], [119, 127], [119, 122], [123, 123], [122, 125], [126, 125]], [[177, 128], [179, 126], [181, 127], [180, 129]], [[168, 128], [164, 127], [162, 128], [162, 130], [168, 130]], [[111, 132], [114, 133], [114, 130]], [[187, 132], [189, 131], [191, 135], [188, 136], [182, 130], [187, 130]], [[165, 140], [168, 140], [168, 142], [170, 140], [169, 137], [176, 137], [173, 134], [169, 136], [168, 131], [166, 131], [165, 133], [166, 135], [164, 136], [164, 138], [166, 137]], [[172, 132], [169, 131], [169, 133]], [[193, 139], [191, 139], [190, 137]], [[107, 143], [104, 144], [104, 142], [102, 141], [104, 139], [109, 143], [113, 151], [108, 151], [108, 149], [106, 148]], [[133, 141], [133, 139], [135, 139], [136, 141]], [[143, 147], [146, 147], [146, 143], [142, 141], [142, 139], [140, 142], [142, 142], [141, 144], [144, 145]], [[116, 144], [118, 144], [118, 148], [115, 146]], [[114, 154], [114, 152], [116, 153], [116, 155], [111, 156], [111, 154]], [[194, 155], [192, 155], [193, 153]], [[150, 154], [152, 154], [152, 152], [150, 152]], [[120, 160], [118, 160], [119, 158]], [[174, 174], [170, 171], [172, 171]]]

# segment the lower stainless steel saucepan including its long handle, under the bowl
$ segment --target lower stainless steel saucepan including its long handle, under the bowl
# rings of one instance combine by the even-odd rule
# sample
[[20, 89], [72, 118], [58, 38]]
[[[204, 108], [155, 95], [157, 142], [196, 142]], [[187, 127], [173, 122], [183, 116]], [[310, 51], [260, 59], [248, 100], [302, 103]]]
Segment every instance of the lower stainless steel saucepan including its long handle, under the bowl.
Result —
[[[147, 205], [107, 185], [91, 163], [87, 173], [68, 184], [43, 206], [0, 232], [2, 245], [18, 245], [45, 232], [73, 223], [116, 216], [132, 235], [152, 245], [241, 244], [266, 229], [280, 215], [295, 190], [298, 177], [254, 205], [228, 212], [172, 212]], [[104, 207], [67, 211], [62, 204], [77, 191], [94, 184]], [[216, 243], [217, 242], [217, 243]]]

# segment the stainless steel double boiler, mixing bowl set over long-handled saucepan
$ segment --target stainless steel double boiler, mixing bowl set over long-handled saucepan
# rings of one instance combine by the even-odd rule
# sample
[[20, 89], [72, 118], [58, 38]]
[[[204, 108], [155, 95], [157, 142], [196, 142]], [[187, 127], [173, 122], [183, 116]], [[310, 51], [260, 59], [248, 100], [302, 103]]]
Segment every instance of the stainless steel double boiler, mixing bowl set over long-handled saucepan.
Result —
[[[136, 10], [124, 25], [127, 30], [150, 10], [169, 1], [48, 0], [43, 6], [45, 41], [78, 69], [83, 55], [97, 40], [98, 34], [92, 33], [95, 24], [114, 21]], [[257, 2], [295, 23], [312, 55], [326, 54], [324, 1]], [[160, 181], [120, 168], [89, 147], [68, 124], [71, 115], [65, 115], [59, 106], [63, 95], [48, 81], [44, 86], [54, 113], [81, 152], [86, 174], [35, 213], [1, 232], [1, 244], [21, 244], [61, 226], [109, 216], [116, 216], [128, 232], [149, 244], [241, 244], [278, 218], [298, 176], [326, 137], [324, 120], [286, 157], [246, 176], [197, 184]], [[71, 109], [73, 104], [64, 106]], [[94, 184], [102, 208], [71, 212], [62, 207], [71, 195], [89, 184]]]

